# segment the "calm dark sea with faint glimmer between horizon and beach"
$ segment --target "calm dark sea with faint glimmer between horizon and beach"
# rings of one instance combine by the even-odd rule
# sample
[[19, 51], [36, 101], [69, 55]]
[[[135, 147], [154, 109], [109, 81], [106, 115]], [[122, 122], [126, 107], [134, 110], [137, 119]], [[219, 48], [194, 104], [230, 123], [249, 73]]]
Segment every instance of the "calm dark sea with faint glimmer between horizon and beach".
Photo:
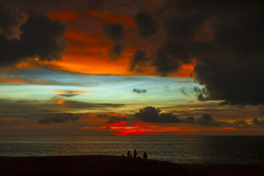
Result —
[[0, 156], [126, 155], [174, 163], [264, 163], [264, 136], [0, 137]]

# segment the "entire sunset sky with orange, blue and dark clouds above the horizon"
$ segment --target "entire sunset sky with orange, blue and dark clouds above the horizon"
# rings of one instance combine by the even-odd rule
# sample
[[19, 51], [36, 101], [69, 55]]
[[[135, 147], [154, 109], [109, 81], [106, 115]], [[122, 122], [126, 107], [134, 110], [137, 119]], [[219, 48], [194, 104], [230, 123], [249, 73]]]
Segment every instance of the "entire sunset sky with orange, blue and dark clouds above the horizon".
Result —
[[1, 1], [0, 135], [264, 135], [263, 22], [263, 1]]

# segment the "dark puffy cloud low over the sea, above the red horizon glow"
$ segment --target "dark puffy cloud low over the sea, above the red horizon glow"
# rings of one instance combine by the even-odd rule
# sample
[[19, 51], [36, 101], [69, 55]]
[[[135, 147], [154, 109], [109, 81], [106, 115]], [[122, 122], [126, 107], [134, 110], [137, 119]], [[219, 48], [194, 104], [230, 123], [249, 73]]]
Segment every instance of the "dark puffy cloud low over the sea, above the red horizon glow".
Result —
[[161, 110], [155, 109], [154, 107], [145, 107], [139, 110], [139, 113], [135, 114], [135, 117], [144, 122], [153, 123], [181, 123], [182, 121], [178, 119], [172, 113], [161, 113]]

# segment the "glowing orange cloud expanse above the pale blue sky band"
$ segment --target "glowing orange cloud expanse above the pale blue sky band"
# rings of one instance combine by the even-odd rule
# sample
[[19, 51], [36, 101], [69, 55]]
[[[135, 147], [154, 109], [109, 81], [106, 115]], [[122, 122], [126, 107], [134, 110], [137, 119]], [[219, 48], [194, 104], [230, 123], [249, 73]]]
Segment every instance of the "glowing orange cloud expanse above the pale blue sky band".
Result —
[[[145, 46], [150, 41], [143, 40], [135, 32], [133, 17], [116, 13], [105, 13], [102, 11], [87, 12], [88, 18], [93, 18], [93, 30], [83, 31], [79, 26], [72, 25], [71, 22], [78, 20], [80, 26], [87, 25], [87, 20], [81, 18], [81, 14], [74, 11], [56, 12], [47, 14], [51, 19], [58, 19], [68, 22], [68, 29], [64, 36], [68, 41], [68, 49], [62, 55], [61, 61], [41, 62], [38, 59], [29, 59], [18, 65], [19, 68], [45, 68], [60, 71], [69, 71], [85, 74], [113, 74], [113, 75], [149, 75], [159, 76], [155, 73], [154, 67], [149, 66], [147, 72], [130, 72], [129, 57], [136, 49], [146, 49]], [[83, 15], [83, 14], [82, 14]], [[103, 23], [122, 23], [126, 34], [123, 41], [124, 52], [118, 60], [112, 60], [108, 56], [109, 48], [113, 47], [111, 42], [102, 31]], [[151, 65], [151, 64], [150, 64]], [[170, 77], [190, 77], [194, 70], [195, 59], [191, 64], [182, 64], [177, 73]]]

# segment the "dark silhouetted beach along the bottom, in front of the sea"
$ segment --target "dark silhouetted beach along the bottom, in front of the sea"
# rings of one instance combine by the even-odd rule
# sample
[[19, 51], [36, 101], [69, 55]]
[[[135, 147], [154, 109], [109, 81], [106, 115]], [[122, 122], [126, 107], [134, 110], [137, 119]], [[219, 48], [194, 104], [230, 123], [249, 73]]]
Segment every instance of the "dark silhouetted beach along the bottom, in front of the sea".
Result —
[[[263, 165], [173, 164], [126, 156], [0, 157], [0, 175], [262, 175]], [[249, 170], [248, 170], [249, 169]]]

